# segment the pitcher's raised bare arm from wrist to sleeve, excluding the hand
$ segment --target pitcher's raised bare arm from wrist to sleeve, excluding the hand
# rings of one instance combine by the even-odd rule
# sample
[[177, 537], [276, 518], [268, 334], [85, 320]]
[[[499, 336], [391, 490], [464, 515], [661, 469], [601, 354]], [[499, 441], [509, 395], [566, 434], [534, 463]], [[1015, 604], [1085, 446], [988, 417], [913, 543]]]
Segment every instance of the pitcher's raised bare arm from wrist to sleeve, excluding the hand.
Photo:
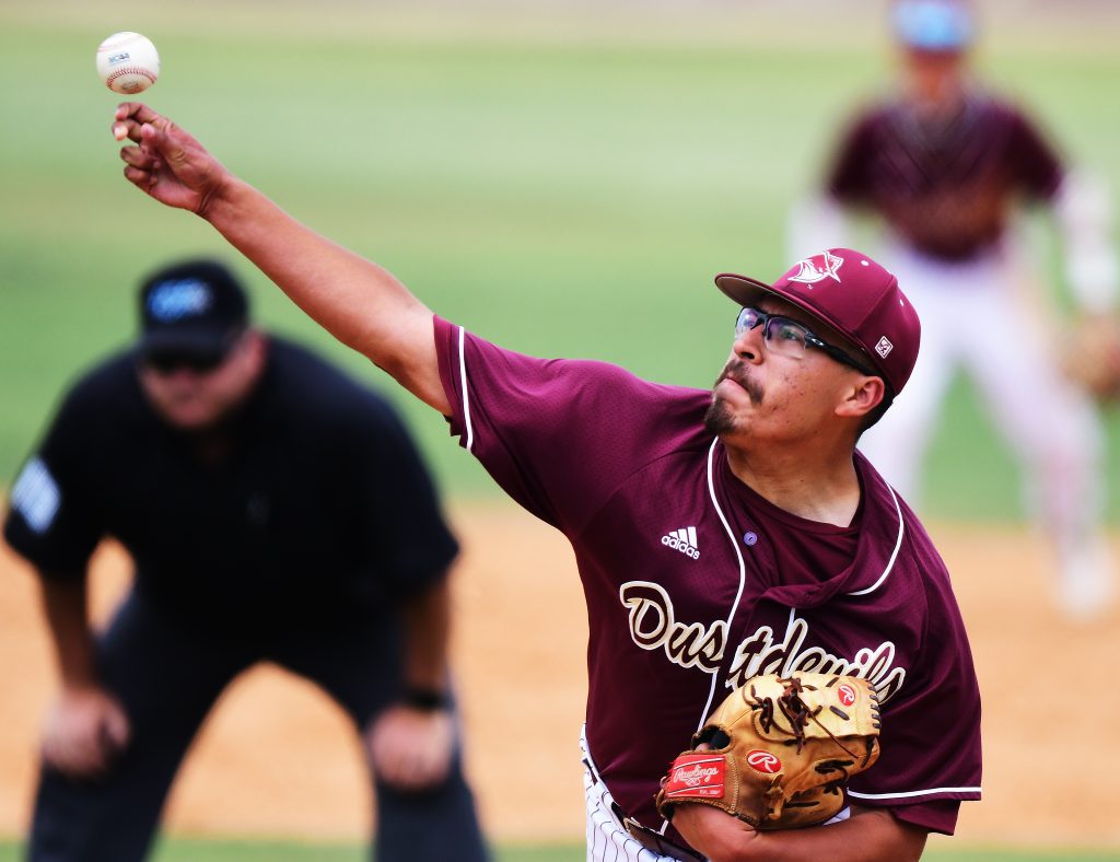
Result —
[[432, 312], [392, 273], [299, 223], [234, 177], [202, 215], [338, 340], [421, 401], [449, 412]]

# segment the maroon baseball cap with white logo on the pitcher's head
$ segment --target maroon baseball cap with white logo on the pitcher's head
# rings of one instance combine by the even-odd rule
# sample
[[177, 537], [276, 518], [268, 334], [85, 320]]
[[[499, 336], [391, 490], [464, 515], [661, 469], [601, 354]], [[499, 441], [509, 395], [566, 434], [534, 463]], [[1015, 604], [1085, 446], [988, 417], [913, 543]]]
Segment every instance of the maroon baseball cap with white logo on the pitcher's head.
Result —
[[894, 393], [902, 392], [914, 363], [922, 325], [898, 279], [866, 254], [829, 249], [797, 261], [773, 284], [725, 272], [716, 284], [740, 306], [773, 293], [823, 320], [856, 345]]

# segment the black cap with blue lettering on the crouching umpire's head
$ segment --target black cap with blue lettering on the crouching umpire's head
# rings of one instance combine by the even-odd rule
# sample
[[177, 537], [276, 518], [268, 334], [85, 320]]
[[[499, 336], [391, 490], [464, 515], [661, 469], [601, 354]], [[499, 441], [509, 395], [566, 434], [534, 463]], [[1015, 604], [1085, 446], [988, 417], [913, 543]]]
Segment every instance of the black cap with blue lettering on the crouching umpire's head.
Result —
[[249, 325], [249, 299], [217, 261], [190, 260], [152, 273], [140, 288], [140, 353], [216, 359]]

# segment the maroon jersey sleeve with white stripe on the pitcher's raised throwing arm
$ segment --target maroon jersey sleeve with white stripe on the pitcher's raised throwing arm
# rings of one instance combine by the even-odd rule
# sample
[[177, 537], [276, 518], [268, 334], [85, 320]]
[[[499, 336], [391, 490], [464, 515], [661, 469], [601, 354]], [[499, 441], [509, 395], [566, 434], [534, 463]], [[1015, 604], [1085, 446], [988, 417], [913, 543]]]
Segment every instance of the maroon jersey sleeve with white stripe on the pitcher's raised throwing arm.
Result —
[[436, 346], [451, 433], [514, 500], [568, 535], [679, 442], [651, 431], [674, 427], [673, 411], [694, 403], [691, 390], [607, 363], [524, 356], [439, 318]]

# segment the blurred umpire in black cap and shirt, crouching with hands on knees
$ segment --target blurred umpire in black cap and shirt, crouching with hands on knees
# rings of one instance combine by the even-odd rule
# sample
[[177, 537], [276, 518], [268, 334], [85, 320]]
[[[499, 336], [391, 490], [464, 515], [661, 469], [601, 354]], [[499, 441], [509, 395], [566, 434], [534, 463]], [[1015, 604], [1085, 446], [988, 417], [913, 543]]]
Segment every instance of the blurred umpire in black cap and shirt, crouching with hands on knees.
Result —
[[[446, 666], [458, 545], [400, 419], [252, 327], [221, 263], [157, 272], [140, 317], [11, 489], [4, 537], [38, 572], [62, 676], [29, 858], [142, 859], [214, 701], [268, 660], [363, 733], [377, 859], [484, 859]], [[136, 577], [94, 635], [87, 564], [110, 535]]]

